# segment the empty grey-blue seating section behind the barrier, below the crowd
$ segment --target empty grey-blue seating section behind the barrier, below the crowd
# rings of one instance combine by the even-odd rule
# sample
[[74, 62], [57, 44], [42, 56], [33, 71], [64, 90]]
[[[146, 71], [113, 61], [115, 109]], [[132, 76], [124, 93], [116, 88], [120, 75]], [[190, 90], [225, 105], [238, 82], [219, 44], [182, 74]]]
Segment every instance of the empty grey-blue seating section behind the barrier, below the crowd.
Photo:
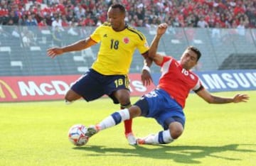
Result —
[[[2, 26], [7, 31], [10, 26]], [[13, 29], [16, 29], [12, 26]], [[22, 29], [22, 28], [21, 28]], [[81, 27], [75, 31], [81, 31]], [[154, 38], [152, 30], [138, 28], [146, 35], [149, 43]], [[195, 70], [210, 71], [223, 69], [256, 69], [256, 41], [255, 29], [247, 29], [246, 35], [230, 34], [233, 29], [221, 28], [218, 39], [213, 38], [213, 28], [169, 28], [161, 40], [159, 52], [179, 58], [188, 45], [198, 47], [203, 56]], [[90, 28], [93, 31], [93, 28]], [[52, 31], [50, 31], [51, 33]], [[55, 74], [82, 74], [92, 65], [97, 57], [100, 45], [80, 51], [69, 52], [61, 57], [50, 59], [46, 50], [54, 45], [53, 36], [42, 33], [41, 29], [34, 28], [33, 42], [25, 44], [23, 38], [13, 38], [9, 34], [1, 38], [0, 45], [0, 75], [55, 75]], [[19, 33], [24, 37], [23, 31]], [[63, 43], [73, 43], [85, 36], [68, 35], [67, 29], [63, 32]], [[250, 56], [249, 56], [250, 55]], [[233, 58], [235, 58], [233, 60]], [[230, 61], [230, 63], [228, 62]], [[234, 65], [233, 62], [245, 62], [246, 65]], [[130, 72], [141, 72], [143, 57], [135, 52]], [[225, 65], [227, 67], [225, 67]], [[153, 65], [152, 72], [159, 72], [159, 67]]]

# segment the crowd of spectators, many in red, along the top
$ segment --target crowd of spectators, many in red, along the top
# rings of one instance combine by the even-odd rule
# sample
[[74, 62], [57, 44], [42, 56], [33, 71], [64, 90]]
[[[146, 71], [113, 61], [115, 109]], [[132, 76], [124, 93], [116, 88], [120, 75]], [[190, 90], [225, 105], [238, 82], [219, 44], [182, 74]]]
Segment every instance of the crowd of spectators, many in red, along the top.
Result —
[[256, 28], [256, 0], [0, 0], [0, 25], [99, 26], [111, 4], [126, 6], [134, 27]]

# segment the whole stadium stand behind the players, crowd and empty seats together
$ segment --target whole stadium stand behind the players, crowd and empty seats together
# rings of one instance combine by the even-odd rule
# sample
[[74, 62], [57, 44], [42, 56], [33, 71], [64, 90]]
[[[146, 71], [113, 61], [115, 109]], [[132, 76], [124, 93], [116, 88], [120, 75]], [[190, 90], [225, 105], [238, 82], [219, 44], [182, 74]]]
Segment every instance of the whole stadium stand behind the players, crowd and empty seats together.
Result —
[[[244, 57], [246, 66], [255, 68], [255, 1], [16, 0], [0, 4], [0, 75], [85, 72], [97, 57], [99, 45], [54, 60], [46, 56], [46, 50], [90, 35], [107, 20], [107, 9], [113, 3], [126, 6], [127, 23], [142, 31], [149, 43], [157, 24], [169, 24], [159, 52], [179, 58], [188, 45], [198, 47], [203, 56], [195, 70], [224, 69], [223, 65], [238, 55], [242, 55], [240, 62]], [[130, 72], [140, 72], [142, 60], [139, 52], [135, 52]], [[241, 65], [229, 66], [239, 69]], [[153, 65], [152, 72], [159, 72], [159, 67]]]

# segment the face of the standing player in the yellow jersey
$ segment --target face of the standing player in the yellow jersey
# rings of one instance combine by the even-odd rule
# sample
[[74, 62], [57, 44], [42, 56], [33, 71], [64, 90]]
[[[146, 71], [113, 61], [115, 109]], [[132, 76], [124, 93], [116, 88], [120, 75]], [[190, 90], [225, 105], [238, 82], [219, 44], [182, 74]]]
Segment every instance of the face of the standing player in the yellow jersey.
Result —
[[124, 30], [124, 17], [124, 13], [122, 13], [118, 8], [112, 9], [110, 7], [109, 11], [107, 12], [107, 19], [111, 23], [111, 26], [114, 29], [114, 31]]

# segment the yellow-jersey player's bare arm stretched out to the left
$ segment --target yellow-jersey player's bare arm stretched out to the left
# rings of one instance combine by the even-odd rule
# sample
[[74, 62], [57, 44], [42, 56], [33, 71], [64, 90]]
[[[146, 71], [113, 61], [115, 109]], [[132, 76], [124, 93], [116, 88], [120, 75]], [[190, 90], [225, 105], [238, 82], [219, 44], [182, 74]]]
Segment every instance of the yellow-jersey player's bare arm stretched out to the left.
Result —
[[90, 37], [84, 40], [79, 40], [71, 45], [66, 45], [62, 48], [49, 48], [47, 50], [48, 57], [54, 58], [58, 55], [61, 55], [65, 52], [72, 52], [72, 51], [79, 51], [84, 50], [85, 48], [90, 48], [92, 45], [97, 44], [94, 40]]

